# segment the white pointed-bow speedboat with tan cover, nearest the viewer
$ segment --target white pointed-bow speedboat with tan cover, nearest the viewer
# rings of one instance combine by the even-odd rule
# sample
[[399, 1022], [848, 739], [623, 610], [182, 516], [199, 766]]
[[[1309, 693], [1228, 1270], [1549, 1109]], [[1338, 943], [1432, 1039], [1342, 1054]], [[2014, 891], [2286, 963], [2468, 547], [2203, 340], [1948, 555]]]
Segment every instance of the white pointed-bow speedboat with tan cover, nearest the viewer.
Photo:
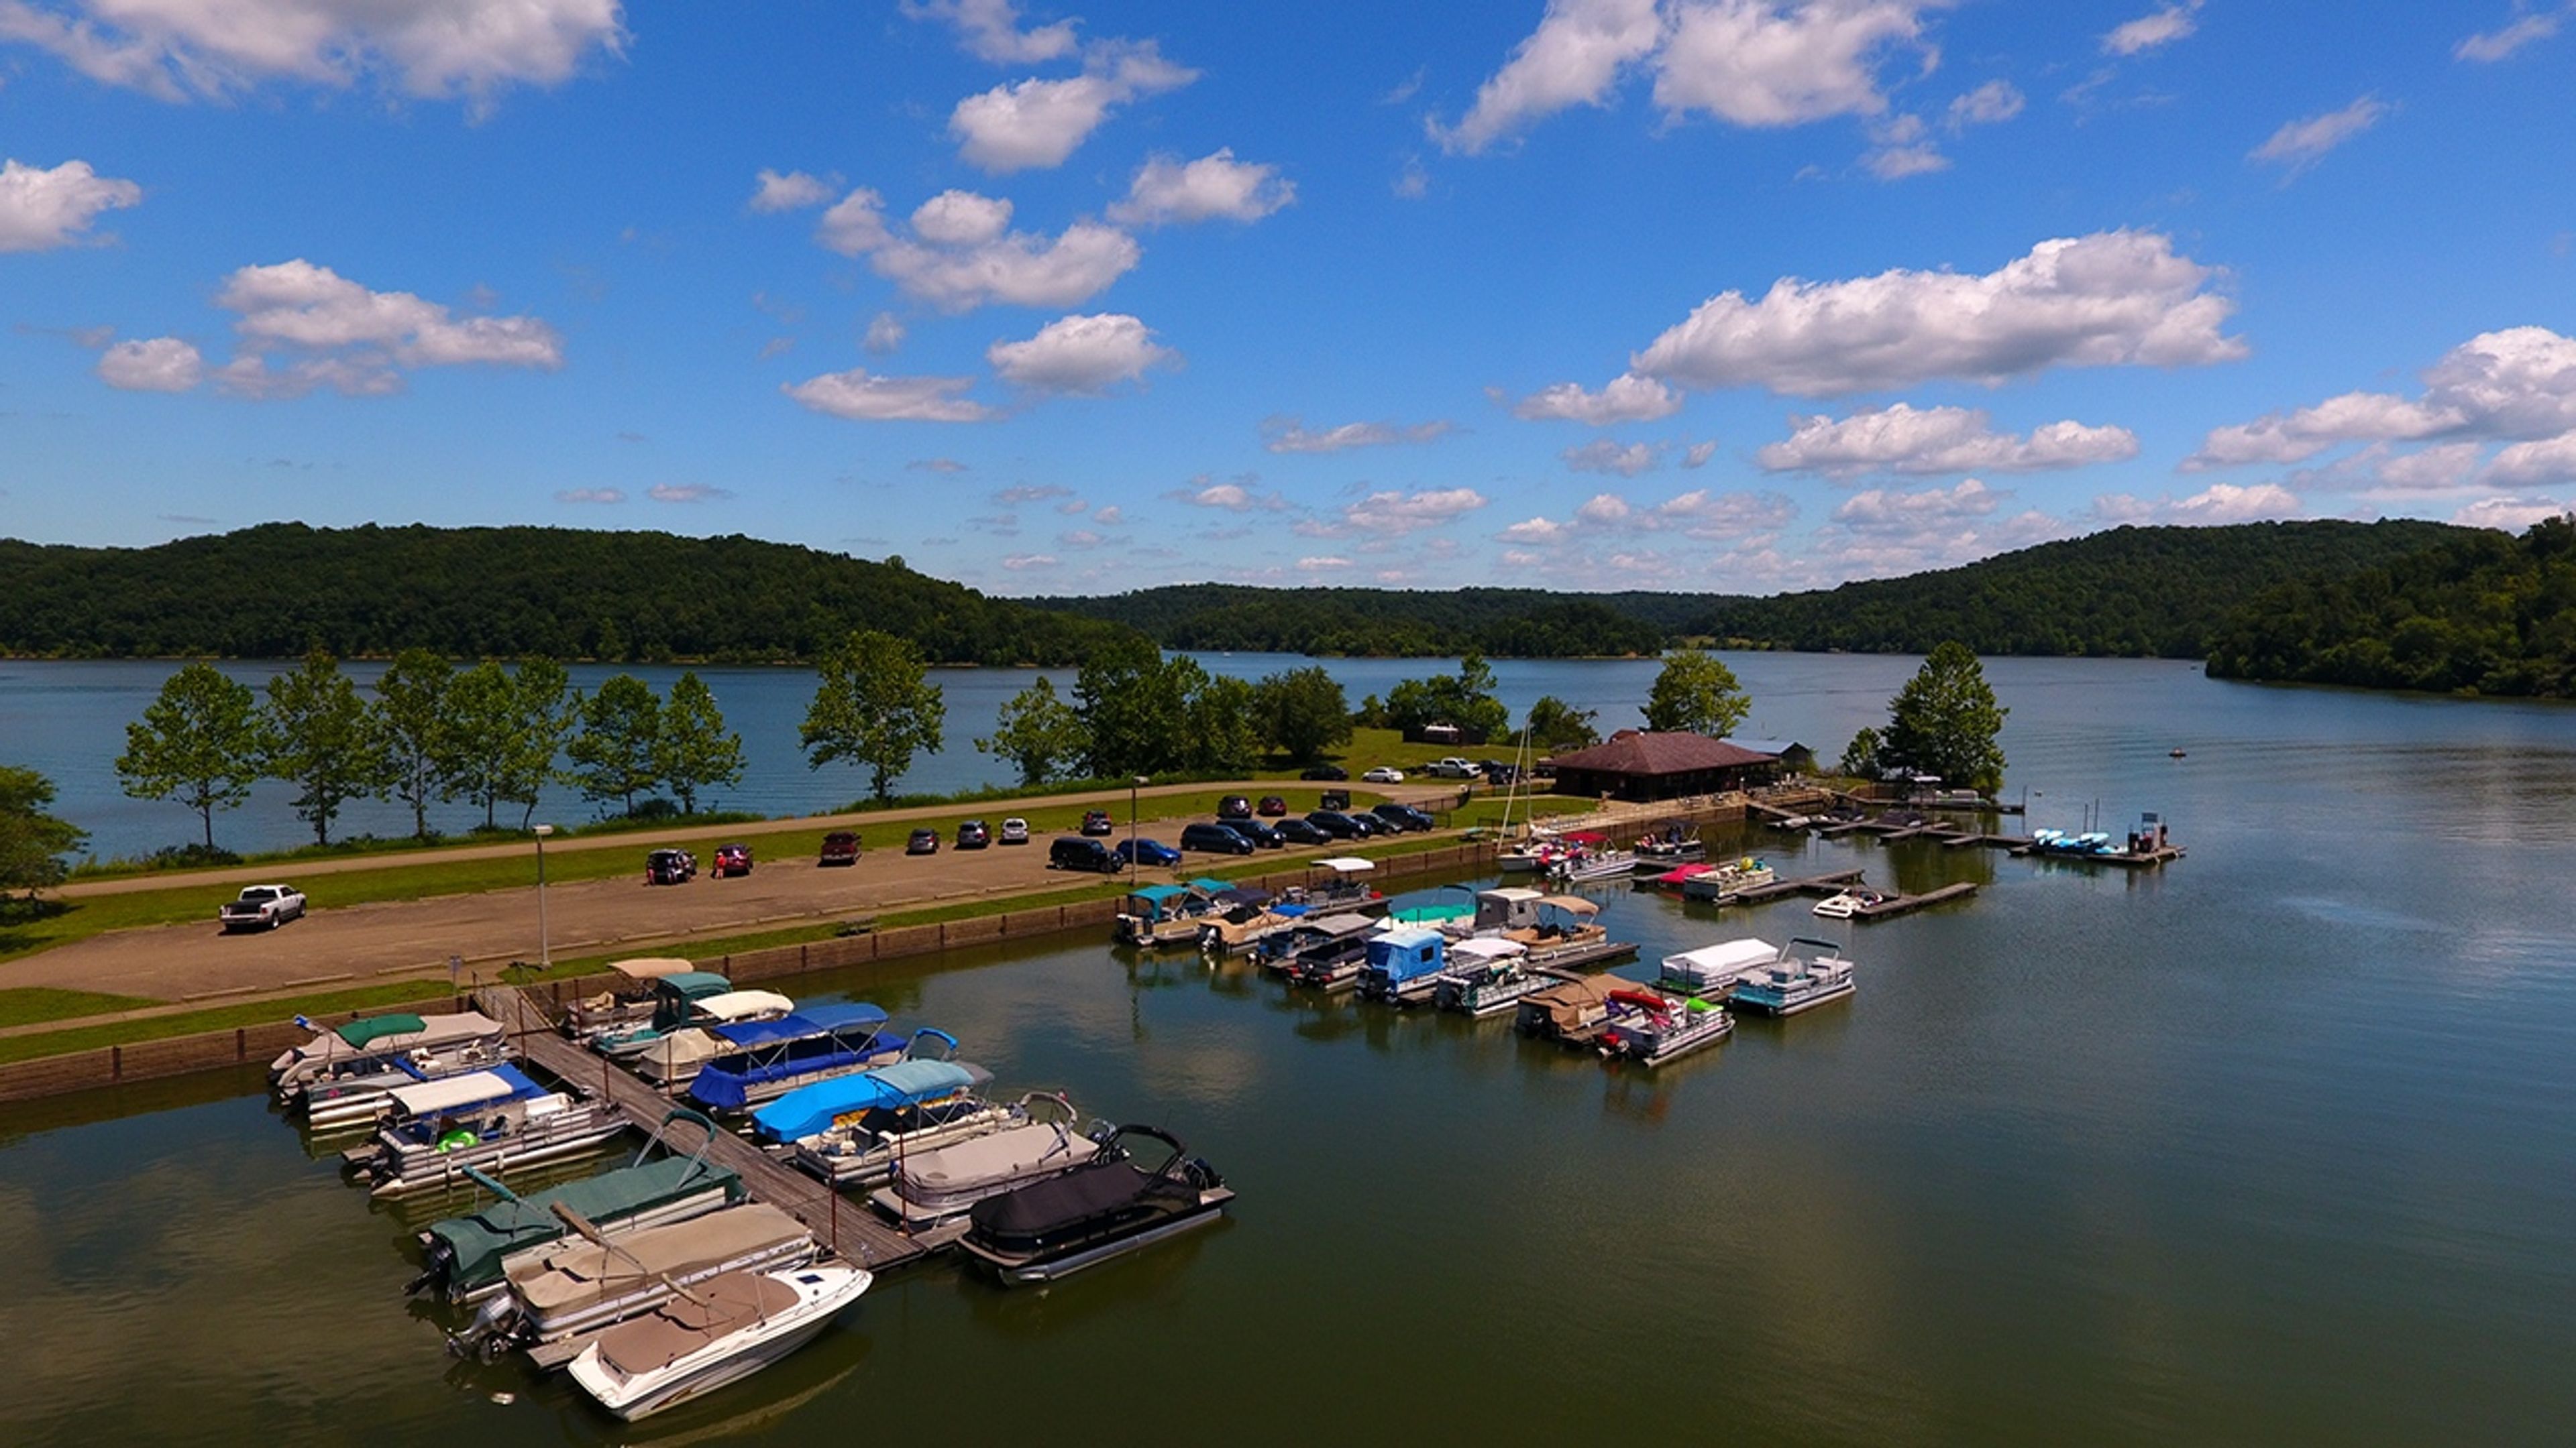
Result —
[[724, 1273], [688, 1299], [600, 1332], [567, 1373], [600, 1407], [634, 1422], [804, 1348], [871, 1283], [866, 1268], [837, 1260], [788, 1273]]

